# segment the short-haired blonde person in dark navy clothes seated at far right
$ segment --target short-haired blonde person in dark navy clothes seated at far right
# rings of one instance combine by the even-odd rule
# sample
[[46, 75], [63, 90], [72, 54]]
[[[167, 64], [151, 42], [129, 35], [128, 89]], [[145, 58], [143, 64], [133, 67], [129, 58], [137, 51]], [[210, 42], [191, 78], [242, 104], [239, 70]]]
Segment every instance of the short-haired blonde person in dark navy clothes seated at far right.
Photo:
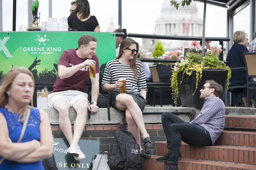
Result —
[[[244, 31], [236, 31], [233, 34], [233, 41], [234, 44], [230, 48], [230, 51], [227, 54], [227, 65], [230, 68], [237, 68], [237, 67], [245, 67], [244, 63], [244, 56], [243, 53], [248, 53], [247, 49], [247, 33]], [[232, 85], [244, 85], [247, 83], [247, 75], [246, 70], [232, 70], [231, 72], [231, 80], [230, 83]], [[246, 92], [244, 92], [246, 93]], [[254, 101], [254, 93], [255, 90], [249, 91], [250, 101], [252, 103], [253, 108], [255, 108], [255, 101]], [[245, 107], [247, 107], [247, 99], [246, 96], [242, 97], [242, 101], [244, 102]]]

